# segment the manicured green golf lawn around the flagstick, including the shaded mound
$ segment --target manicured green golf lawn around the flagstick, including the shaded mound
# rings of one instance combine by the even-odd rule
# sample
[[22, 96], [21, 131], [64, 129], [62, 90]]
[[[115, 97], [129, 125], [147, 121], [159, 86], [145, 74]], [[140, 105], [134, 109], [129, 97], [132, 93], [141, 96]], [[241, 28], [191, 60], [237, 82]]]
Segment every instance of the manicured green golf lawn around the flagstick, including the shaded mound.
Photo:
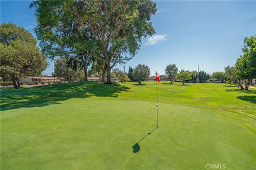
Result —
[[256, 90], [161, 82], [155, 129], [155, 82], [136, 84], [1, 90], [1, 169], [256, 167]]

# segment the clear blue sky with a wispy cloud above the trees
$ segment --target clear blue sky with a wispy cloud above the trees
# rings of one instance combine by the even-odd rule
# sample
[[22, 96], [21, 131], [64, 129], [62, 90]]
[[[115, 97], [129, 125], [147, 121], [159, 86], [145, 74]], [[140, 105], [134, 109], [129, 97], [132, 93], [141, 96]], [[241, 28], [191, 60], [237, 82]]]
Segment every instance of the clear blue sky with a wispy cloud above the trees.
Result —
[[[256, 34], [255, 1], [155, 1], [155, 35], [143, 40], [138, 54], [124, 64], [146, 64], [153, 75], [167, 64], [179, 70], [223, 71], [242, 54], [243, 40]], [[13, 22], [34, 34], [30, 1], [1, 1], [1, 23]], [[123, 70], [123, 65], [117, 65]], [[44, 73], [53, 72], [53, 64]]]

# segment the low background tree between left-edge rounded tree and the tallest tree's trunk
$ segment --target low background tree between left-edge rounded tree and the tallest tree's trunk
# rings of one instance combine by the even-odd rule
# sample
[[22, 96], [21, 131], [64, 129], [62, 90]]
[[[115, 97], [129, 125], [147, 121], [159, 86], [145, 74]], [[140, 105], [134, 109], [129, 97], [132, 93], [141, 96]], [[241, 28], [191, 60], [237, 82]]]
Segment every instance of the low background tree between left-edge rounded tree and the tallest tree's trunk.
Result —
[[65, 78], [66, 81], [72, 82], [83, 79], [82, 70], [74, 70], [68, 64], [68, 58], [58, 58], [55, 61], [55, 76]]

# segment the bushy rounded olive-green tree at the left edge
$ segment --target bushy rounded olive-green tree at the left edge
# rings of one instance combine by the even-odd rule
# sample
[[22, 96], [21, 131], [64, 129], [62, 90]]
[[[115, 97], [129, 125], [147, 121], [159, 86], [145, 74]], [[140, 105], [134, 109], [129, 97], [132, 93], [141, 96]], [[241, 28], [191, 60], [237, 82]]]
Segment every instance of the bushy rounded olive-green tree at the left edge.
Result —
[[0, 37], [0, 73], [4, 78], [11, 78], [15, 88], [19, 88], [20, 77], [39, 75], [46, 69], [46, 58], [30, 32], [12, 23], [1, 24]]

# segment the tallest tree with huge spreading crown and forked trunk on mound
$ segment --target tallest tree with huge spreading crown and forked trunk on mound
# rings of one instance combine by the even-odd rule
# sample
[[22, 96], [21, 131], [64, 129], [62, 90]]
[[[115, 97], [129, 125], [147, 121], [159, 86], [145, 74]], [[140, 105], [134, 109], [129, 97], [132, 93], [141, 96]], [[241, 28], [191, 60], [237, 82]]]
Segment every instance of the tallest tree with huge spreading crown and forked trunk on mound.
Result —
[[30, 6], [36, 9], [35, 31], [45, 54], [88, 54], [105, 63], [109, 75], [155, 32], [153, 1], [34, 1]]

